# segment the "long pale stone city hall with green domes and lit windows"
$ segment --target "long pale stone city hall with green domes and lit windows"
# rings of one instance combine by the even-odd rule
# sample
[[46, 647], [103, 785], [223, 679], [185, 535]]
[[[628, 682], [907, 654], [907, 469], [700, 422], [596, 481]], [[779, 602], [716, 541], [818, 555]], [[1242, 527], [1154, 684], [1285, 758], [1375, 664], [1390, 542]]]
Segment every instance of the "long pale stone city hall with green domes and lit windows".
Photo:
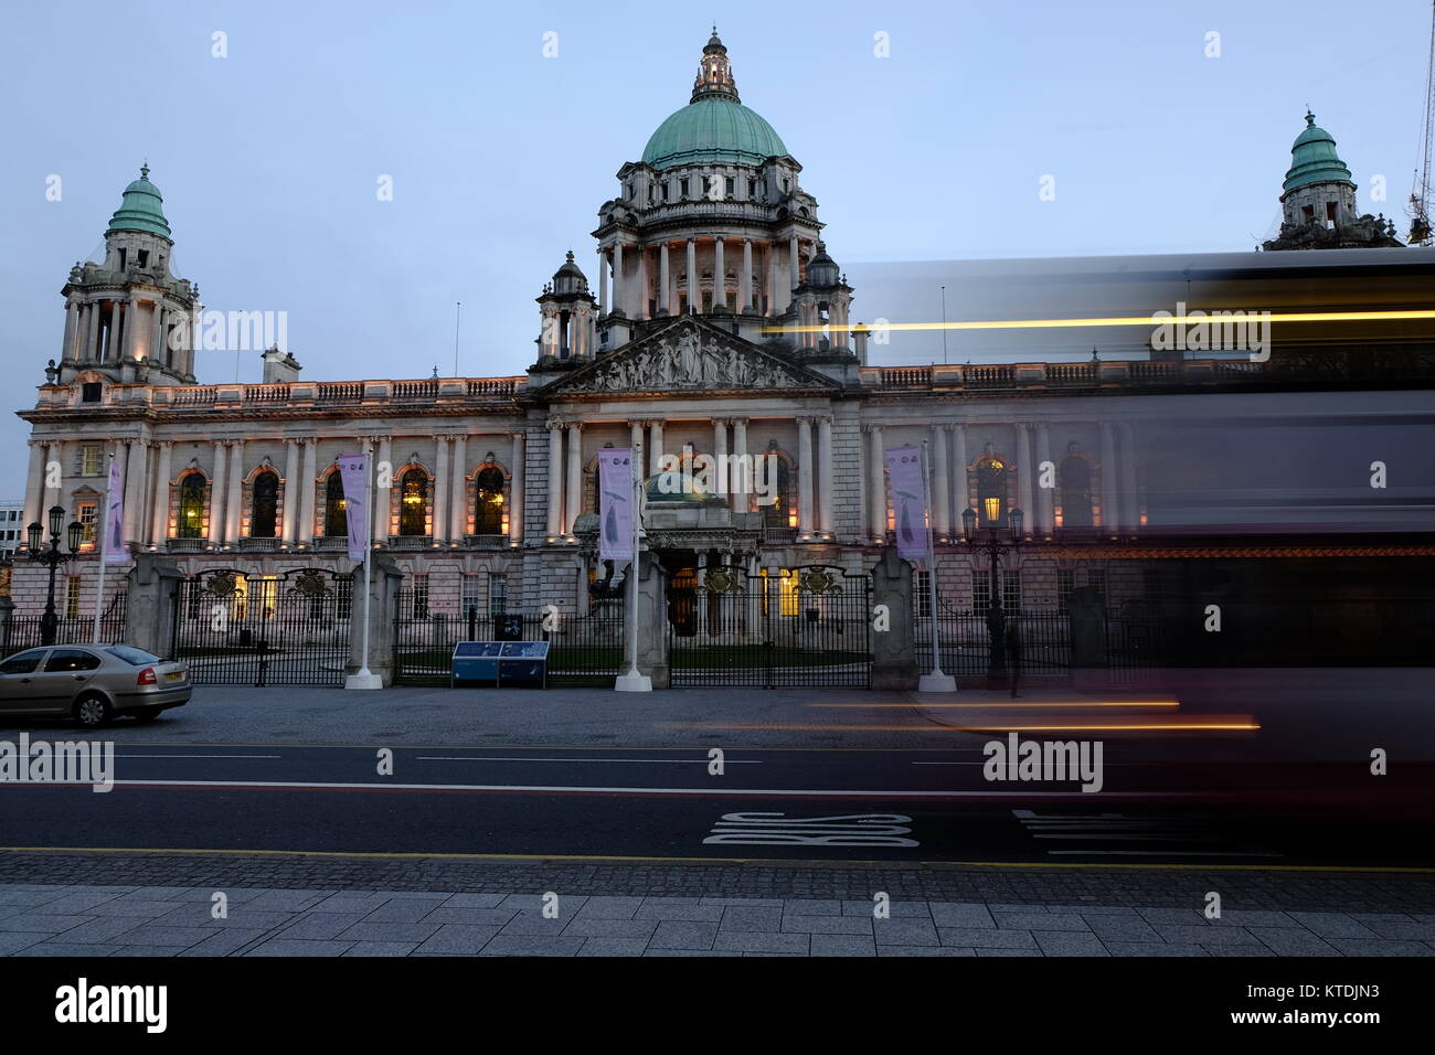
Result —
[[[343, 683], [364, 662], [433, 677], [456, 642], [512, 636], [551, 642], [551, 676], [597, 685], [626, 669], [624, 619], [656, 686], [916, 686], [934, 639], [947, 673], [980, 679], [1004, 644], [993, 611], [1033, 676], [1413, 652], [1402, 627], [1431, 622], [1428, 324], [1355, 342], [1280, 314], [1403, 304], [1435, 257], [1359, 214], [1313, 115], [1292, 132], [1280, 235], [1185, 273], [1215, 307], [1274, 313], [1269, 355], [1142, 337], [1138, 355], [1053, 362], [883, 362], [818, 217], [821, 174], [740, 102], [716, 32], [690, 100], [618, 168], [596, 258], [568, 253], [541, 286], [521, 376], [310, 382], [303, 350], [276, 344], [261, 383], [197, 378], [199, 290], [172, 271], [145, 169], [103, 255], [70, 271], [62, 347], [20, 411], [40, 531], [14, 557], [7, 647], [47, 604], [89, 639], [119, 478], [122, 560], [98, 614], [199, 680]], [[930, 477], [916, 570], [887, 469], [904, 446]], [[600, 558], [604, 448], [641, 459], [641, 616]], [[363, 449], [367, 657], [337, 464]], [[52, 533], [75, 545], [53, 587], [27, 558]], [[874, 623], [888, 604], [900, 626]], [[1213, 604], [1218, 639], [1201, 633]]]

